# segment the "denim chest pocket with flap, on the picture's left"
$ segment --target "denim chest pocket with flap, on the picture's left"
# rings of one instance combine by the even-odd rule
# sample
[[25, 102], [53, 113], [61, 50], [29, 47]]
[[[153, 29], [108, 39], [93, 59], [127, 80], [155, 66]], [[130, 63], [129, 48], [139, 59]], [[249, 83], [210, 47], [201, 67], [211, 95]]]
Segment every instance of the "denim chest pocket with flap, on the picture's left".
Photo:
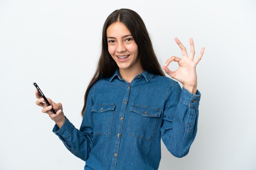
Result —
[[92, 106], [94, 135], [108, 135], [111, 132], [115, 106], [115, 104], [94, 104]]

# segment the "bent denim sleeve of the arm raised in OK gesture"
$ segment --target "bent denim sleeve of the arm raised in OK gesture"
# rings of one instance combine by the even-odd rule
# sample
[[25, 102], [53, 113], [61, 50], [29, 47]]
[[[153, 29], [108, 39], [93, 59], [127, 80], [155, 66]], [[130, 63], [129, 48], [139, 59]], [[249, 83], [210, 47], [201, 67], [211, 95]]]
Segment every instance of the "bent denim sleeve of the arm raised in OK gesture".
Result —
[[198, 124], [200, 92], [190, 93], [179, 83], [171, 85], [166, 93], [162, 141], [175, 157], [184, 157], [195, 139]]

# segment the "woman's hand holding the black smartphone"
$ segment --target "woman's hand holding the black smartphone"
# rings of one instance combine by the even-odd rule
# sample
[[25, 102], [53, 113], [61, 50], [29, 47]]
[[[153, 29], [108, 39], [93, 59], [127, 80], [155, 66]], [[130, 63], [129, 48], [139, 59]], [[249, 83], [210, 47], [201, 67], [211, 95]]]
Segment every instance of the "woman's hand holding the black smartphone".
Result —
[[[36, 90], [36, 98], [38, 98], [38, 100], [36, 100], [36, 105], [43, 107], [42, 112], [47, 113], [49, 117], [58, 125], [58, 127], [61, 128], [61, 126], [64, 124], [66, 119], [63, 113], [62, 104], [61, 103], [56, 104], [51, 99], [47, 98], [49, 103], [52, 105], [52, 106], [48, 106], [46, 102], [44, 102], [44, 98], [42, 98], [39, 95], [38, 90]], [[56, 114], [52, 113], [51, 111], [52, 107], [56, 111]]]

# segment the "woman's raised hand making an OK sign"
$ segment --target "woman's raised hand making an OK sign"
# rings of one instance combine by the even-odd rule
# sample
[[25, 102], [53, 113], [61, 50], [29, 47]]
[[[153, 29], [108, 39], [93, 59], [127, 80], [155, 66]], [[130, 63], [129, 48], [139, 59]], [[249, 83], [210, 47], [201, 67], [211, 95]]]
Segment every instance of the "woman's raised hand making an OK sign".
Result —
[[[180, 81], [182, 83], [183, 87], [189, 90], [189, 92], [196, 94], [197, 91], [197, 76], [195, 71], [195, 66], [198, 64], [198, 62], [202, 59], [202, 55], [204, 53], [204, 48], [201, 49], [200, 54], [198, 57], [194, 60], [195, 56], [195, 48], [194, 48], [194, 42], [193, 39], [190, 38], [190, 48], [191, 52], [188, 56], [186, 52], [186, 48], [182, 45], [179, 39], [177, 37], [175, 38], [176, 43], [180, 46], [181, 52], [182, 52], [182, 59], [179, 57], [172, 56], [170, 59], [168, 59], [162, 68], [164, 71], [171, 76], [171, 78], [176, 79], [177, 81]], [[167, 66], [172, 62], [176, 61], [179, 64], [179, 68], [176, 71], [171, 71], [167, 68]]]

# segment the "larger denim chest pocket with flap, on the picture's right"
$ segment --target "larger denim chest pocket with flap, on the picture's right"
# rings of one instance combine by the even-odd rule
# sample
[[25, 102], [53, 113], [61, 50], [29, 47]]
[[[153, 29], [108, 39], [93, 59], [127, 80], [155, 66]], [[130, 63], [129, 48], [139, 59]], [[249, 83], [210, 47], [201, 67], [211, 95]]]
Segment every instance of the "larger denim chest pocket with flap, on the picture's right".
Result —
[[161, 109], [132, 105], [130, 109], [127, 133], [130, 136], [139, 137], [141, 139], [153, 139], [160, 114]]

